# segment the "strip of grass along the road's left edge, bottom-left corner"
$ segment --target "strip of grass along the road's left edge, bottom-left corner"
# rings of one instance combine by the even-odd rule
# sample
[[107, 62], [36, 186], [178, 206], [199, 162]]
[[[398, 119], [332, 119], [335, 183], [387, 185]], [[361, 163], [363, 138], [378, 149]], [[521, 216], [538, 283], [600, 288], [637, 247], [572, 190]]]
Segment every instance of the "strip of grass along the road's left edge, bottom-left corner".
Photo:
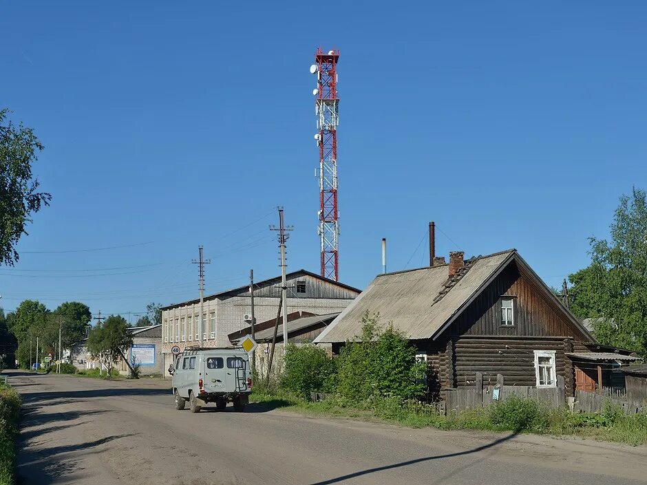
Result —
[[20, 405], [19, 394], [0, 384], [0, 485], [14, 484]]

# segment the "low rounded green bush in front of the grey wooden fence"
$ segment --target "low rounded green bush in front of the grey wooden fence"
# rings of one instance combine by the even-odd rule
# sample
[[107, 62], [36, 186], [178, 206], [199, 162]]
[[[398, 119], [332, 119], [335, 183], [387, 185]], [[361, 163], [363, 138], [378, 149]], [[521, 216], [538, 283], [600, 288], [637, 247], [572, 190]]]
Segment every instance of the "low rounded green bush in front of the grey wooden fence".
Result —
[[489, 420], [494, 427], [511, 431], [542, 431], [547, 427], [546, 413], [539, 402], [510, 396], [494, 402], [488, 410]]

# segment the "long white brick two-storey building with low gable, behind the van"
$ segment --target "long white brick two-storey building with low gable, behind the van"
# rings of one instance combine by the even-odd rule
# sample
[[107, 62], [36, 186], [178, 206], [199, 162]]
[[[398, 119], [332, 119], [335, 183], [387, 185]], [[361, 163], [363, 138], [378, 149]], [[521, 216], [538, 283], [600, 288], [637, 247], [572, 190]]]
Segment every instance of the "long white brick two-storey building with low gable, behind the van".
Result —
[[[254, 313], [257, 322], [276, 318], [281, 278], [255, 283]], [[317, 315], [341, 312], [359, 295], [360, 290], [326, 279], [318, 274], [299, 270], [287, 274], [288, 313], [304, 311]], [[249, 324], [244, 316], [251, 313], [248, 286], [204, 297], [202, 308], [202, 345], [230, 347], [228, 335]], [[198, 345], [200, 341], [200, 300], [185, 301], [162, 308], [162, 354], [164, 371], [173, 361], [171, 347]]]

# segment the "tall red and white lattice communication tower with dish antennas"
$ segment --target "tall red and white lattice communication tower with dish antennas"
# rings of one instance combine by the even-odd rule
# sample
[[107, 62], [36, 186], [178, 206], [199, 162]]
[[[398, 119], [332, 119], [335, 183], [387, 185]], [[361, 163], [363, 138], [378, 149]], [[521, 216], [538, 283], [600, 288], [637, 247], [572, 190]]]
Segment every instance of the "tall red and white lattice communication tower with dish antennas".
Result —
[[339, 51], [315, 53], [310, 72], [317, 75], [315, 135], [319, 147], [319, 236], [321, 237], [321, 276], [339, 281], [339, 209], [337, 208], [337, 61]]

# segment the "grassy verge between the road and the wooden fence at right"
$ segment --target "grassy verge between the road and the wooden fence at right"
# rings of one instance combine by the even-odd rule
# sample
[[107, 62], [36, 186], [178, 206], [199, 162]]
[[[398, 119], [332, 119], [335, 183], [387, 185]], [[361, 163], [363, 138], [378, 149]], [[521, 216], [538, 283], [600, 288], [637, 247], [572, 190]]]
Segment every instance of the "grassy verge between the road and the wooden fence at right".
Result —
[[252, 400], [308, 416], [389, 422], [412, 428], [516, 431], [647, 445], [647, 413], [625, 415], [611, 403], [602, 413], [573, 414], [565, 408], [550, 409], [530, 399], [513, 397], [487, 408], [438, 416], [435, 407], [396, 398], [376, 398], [363, 403], [344, 402], [339, 398], [308, 402], [277, 391], [255, 392]]

